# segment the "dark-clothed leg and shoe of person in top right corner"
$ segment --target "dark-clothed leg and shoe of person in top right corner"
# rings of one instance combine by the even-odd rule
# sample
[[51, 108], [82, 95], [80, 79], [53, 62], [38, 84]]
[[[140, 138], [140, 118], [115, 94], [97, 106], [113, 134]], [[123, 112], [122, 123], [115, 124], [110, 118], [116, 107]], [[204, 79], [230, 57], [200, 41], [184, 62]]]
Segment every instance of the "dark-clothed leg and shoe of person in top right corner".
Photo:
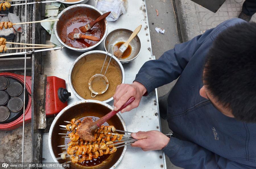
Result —
[[251, 17], [256, 12], [256, 0], [245, 0], [243, 8], [238, 18], [241, 18], [247, 22], [251, 20]]

